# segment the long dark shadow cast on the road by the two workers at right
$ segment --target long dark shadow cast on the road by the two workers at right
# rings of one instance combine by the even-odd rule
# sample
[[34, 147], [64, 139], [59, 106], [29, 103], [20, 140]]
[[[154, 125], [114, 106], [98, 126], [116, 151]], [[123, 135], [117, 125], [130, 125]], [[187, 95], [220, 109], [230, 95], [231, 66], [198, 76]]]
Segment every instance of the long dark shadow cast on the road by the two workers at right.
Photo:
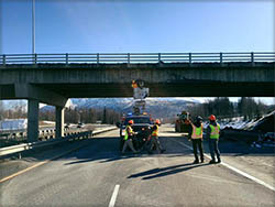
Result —
[[142, 177], [142, 179], [152, 179], [152, 178], [173, 175], [176, 173], [182, 173], [185, 171], [189, 171], [193, 168], [202, 167], [202, 166], [207, 166], [207, 165], [209, 165], [209, 164], [187, 163], [187, 164], [174, 165], [174, 166], [168, 166], [168, 167], [161, 167], [161, 168], [157, 167], [157, 168], [148, 170], [148, 171], [145, 171], [142, 173], [136, 173], [136, 174], [130, 175], [130, 176], [128, 176], [128, 178]]

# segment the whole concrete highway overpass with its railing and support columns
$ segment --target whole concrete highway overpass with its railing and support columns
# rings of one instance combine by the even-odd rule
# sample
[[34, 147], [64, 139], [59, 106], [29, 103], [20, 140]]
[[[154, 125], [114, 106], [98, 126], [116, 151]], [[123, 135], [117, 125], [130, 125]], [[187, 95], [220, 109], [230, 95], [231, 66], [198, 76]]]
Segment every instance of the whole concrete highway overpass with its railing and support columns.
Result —
[[63, 135], [68, 98], [132, 97], [142, 79], [151, 97], [273, 97], [275, 53], [33, 54], [0, 56], [0, 99], [29, 100], [29, 140], [37, 140], [38, 102], [56, 106]]

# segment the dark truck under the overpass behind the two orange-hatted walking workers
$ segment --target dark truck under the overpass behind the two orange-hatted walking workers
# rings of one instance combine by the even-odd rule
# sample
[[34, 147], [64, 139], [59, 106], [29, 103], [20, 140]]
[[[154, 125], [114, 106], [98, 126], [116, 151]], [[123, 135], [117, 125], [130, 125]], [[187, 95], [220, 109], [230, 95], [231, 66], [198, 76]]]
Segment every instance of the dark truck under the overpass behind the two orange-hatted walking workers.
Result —
[[135, 150], [140, 150], [144, 144], [144, 139], [146, 139], [151, 133], [151, 128], [153, 127], [153, 121], [147, 115], [140, 116], [128, 116], [124, 121], [120, 124], [120, 150], [122, 150], [124, 144], [125, 128], [128, 122], [133, 120], [132, 129], [136, 134], [133, 137], [133, 145]]

